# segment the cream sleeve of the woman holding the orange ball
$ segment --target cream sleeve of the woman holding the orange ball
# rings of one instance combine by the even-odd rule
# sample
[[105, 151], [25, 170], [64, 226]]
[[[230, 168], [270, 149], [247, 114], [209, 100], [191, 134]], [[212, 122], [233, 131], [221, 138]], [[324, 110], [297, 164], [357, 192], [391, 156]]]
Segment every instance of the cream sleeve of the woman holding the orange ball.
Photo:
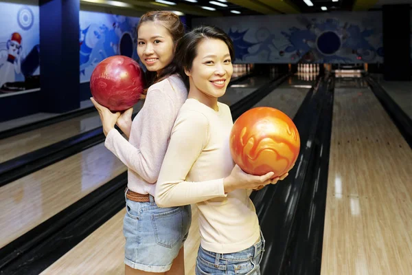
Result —
[[208, 131], [207, 118], [197, 111], [185, 112], [176, 120], [156, 184], [155, 199], [158, 206], [183, 206], [214, 197], [226, 197], [223, 179], [185, 181], [205, 148]]

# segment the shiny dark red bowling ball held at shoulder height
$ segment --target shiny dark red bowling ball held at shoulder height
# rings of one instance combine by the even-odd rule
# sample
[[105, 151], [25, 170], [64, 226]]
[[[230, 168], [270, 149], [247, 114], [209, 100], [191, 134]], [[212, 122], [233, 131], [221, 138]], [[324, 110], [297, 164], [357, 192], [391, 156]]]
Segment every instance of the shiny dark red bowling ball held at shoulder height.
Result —
[[90, 78], [93, 98], [109, 110], [133, 107], [144, 90], [144, 72], [127, 56], [110, 56], [101, 61]]

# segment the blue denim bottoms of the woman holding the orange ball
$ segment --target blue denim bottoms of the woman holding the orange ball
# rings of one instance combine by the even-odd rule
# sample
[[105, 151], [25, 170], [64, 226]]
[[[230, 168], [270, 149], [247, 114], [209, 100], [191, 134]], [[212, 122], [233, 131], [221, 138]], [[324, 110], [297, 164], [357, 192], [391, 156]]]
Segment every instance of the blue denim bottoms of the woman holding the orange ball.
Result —
[[264, 253], [264, 238], [240, 252], [221, 254], [202, 247], [196, 259], [196, 275], [260, 275], [260, 261]]

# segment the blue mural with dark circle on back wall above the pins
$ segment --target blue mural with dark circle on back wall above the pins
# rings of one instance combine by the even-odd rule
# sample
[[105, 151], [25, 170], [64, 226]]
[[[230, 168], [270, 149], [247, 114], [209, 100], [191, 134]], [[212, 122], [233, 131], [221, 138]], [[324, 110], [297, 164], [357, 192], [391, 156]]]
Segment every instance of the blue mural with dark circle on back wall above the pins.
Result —
[[193, 19], [202, 24], [231, 36], [239, 63], [383, 62], [381, 12]]

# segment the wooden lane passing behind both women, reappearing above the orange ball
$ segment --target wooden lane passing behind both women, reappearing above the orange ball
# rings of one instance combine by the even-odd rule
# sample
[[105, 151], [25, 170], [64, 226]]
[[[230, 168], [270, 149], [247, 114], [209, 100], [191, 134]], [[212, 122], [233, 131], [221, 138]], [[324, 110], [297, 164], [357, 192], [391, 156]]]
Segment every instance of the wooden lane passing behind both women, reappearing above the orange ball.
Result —
[[[293, 118], [308, 92], [308, 87], [302, 88], [301, 84], [302, 82], [297, 76], [290, 77], [284, 84], [268, 94], [262, 102], [256, 104], [255, 107], [275, 107]], [[299, 87], [294, 87], [295, 85]], [[233, 100], [236, 102], [238, 99], [233, 98]], [[42, 275], [60, 274], [59, 272], [62, 270], [67, 270], [69, 274], [90, 274], [88, 268], [91, 267], [93, 267], [94, 274], [123, 274], [124, 236], [122, 228], [124, 213], [124, 210], [117, 213], [93, 234], [89, 235], [87, 239], [84, 239], [47, 268]], [[192, 226], [185, 243], [185, 275], [194, 275], [196, 256], [200, 245], [197, 219], [197, 208], [192, 206]], [[106, 261], [109, 254], [113, 256], [113, 261]]]

